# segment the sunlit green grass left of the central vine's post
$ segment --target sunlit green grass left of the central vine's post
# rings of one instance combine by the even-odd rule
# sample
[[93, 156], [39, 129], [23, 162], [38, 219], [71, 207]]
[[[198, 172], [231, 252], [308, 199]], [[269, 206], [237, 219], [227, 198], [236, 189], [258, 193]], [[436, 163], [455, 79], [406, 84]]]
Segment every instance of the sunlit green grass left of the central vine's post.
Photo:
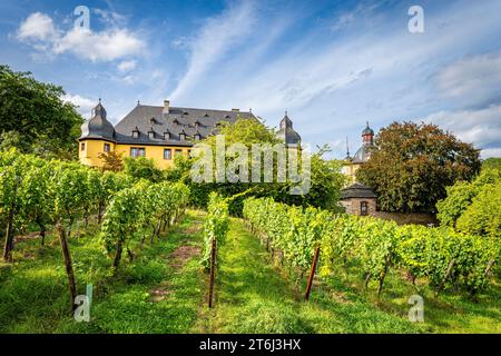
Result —
[[[90, 323], [76, 323], [68, 305], [67, 280], [55, 237], [45, 248], [38, 240], [18, 245], [12, 266], [0, 268], [0, 333], [187, 333], [200, 305], [203, 274], [198, 257], [173, 266], [179, 246], [202, 243], [199, 212], [189, 211], [181, 224], [159, 241], [145, 245], [134, 263], [124, 258], [111, 275], [96, 229], [70, 239], [78, 293], [94, 284]], [[190, 234], [185, 231], [189, 229]], [[161, 299], [155, 300], [155, 290]]]

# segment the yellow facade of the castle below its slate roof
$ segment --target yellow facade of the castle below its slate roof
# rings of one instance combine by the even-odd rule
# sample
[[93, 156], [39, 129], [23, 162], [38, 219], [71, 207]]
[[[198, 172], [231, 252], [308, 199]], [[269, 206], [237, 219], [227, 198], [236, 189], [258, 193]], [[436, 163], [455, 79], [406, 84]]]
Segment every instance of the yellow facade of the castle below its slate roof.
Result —
[[[175, 155], [188, 155], [190, 147], [176, 146], [150, 146], [150, 145], [122, 145], [101, 139], [82, 139], [79, 141], [78, 158], [82, 165], [90, 167], [102, 167], [104, 162], [99, 154], [105, 152], [105, 145], [109, 145], [110, 151], [121, 154], [121, 157], [130, 157], [131, 148], [141, 148], [145, 150], [145, 157], [155, 161], [159, 169], [166, 169], [174, 165]], [[170, 149], [170, 159], [164, 159], [164, 150]]]

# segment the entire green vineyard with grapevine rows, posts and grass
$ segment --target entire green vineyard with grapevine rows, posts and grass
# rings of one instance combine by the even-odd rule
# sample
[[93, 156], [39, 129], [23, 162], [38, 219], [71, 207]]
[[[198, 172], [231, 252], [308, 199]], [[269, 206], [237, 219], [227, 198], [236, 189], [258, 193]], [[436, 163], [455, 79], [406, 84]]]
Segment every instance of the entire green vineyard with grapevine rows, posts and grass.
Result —
[[[191, 210], [184, 184], [16, 151], [0, 180], [2, 332], [501, 332], [495, 238], [272, 198], [232, 218], [234, 197]], [[422, 325], [407, 319], [414, 294]]]

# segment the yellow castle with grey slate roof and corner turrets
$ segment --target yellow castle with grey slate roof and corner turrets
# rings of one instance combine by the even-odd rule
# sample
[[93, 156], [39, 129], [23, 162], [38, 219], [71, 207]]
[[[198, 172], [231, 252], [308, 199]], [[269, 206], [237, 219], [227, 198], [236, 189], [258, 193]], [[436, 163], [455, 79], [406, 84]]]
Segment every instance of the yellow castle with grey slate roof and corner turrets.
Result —
[[[151, 158], [160, 169], [171, 167], [176, 155], [188, 155], [197, 140], [217, 131], [222, 121], [256, 119], [250, 111], [209, 110], [164, 106], [138, 105], [115, 127], [99, 99], [89, 120], [81, 126], [79, 160], [91, 167], [102, 167], [101, 154], [116, 151], [122, 157]], [[277, 132], [289, 147], [297, 147], [299, 135], [294, 131], [285, 115]]]

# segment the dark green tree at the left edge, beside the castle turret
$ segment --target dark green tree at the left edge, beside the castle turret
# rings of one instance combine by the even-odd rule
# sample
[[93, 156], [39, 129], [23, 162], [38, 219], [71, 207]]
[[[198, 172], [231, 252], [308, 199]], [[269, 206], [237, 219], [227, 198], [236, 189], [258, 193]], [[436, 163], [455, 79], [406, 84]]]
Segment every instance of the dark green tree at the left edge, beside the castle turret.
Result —
[[0, 147], [46, 157], [76, 157], [82, 118], [61, 87], [0, 66]]

